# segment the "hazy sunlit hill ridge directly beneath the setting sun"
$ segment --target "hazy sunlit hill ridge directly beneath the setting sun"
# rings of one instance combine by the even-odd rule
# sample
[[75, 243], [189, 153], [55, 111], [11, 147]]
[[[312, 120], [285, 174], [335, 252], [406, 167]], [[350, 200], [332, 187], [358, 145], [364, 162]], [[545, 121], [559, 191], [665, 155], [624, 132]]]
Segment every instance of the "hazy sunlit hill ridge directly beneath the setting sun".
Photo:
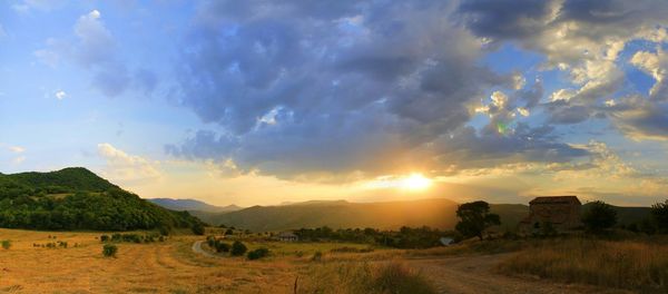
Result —
[[[266, 207], [253, 206], [225, 214], [200, 212], [193, 214], [210, 224], [225, 224], [256, 232], [320, 226], [382, 229], [396, 229], [401, 226], [430, 226], [451, 229], [458, 220], [456, 206], [456, 203], [443, 198], [386, 203], [338, 200]], [[514, 228], [519, 219], [527, 215], [528, 207], [524, 205], [493, 205], [492, 210], [500, 214], [504, 224]]]

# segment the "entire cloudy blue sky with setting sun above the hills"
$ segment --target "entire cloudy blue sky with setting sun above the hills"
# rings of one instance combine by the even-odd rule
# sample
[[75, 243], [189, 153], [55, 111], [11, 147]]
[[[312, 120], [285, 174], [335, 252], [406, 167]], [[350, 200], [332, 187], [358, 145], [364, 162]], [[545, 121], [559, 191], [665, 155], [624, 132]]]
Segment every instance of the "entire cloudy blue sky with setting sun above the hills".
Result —
[[0, 2], [0, 171], [215, 205], [668, 198], [664, 0]]

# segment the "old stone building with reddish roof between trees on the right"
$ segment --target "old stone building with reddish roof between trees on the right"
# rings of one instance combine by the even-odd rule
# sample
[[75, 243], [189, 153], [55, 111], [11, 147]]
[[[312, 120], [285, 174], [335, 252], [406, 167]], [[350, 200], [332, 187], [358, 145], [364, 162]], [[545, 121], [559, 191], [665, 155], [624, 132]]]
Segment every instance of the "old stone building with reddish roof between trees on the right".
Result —
[[540, 233], [548, 223], [557, 232], [570, 231], [582, 225], [580, 208], [582, 204], [576, 196], [537, 197], [529, 203], [529, 216], [518, 226], [521, 234]]

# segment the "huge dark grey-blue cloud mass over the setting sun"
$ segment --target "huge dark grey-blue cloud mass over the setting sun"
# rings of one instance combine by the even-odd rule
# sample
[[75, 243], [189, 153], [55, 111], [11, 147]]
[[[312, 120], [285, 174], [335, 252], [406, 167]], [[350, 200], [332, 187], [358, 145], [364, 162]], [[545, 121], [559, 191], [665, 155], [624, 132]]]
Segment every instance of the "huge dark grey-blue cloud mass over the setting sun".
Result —
[[[449, 165], [582, 156], [556, 137], [528, 138], [524, 127], [503, 136], [464, 127], [473, 101], [513, 79], [479, 65], [481, 42], [448, 17], [452, 3], [232, 3], [199, 8], [177, 69], [183, 105], [220, 129], [169, 154], [287, 178], [438, 170], [465, 148]], [[540, 96], [537, 82], [518, 101], [532, 108]], [[461, 136], [442, 139], [452, 134]]]

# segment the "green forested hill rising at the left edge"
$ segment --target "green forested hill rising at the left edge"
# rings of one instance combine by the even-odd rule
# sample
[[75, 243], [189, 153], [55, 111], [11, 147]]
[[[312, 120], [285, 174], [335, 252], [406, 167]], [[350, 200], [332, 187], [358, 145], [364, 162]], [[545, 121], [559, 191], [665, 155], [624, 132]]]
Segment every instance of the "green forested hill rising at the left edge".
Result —
[[86, 168], [0, 175], [0, 226], [35, 229], [153, 229], [200, 223], [154, 205]]

